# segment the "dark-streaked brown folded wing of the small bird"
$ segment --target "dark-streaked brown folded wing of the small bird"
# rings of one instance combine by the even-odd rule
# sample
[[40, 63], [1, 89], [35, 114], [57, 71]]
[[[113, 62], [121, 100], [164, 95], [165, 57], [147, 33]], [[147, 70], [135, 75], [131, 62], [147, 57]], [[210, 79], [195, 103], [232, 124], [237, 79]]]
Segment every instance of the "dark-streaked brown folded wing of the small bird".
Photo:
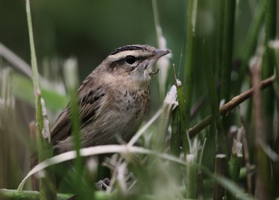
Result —
[[[91, 87], [86, 86], [86, 84]], [[105, 90], [103, 87], [93, 86], [92, 84], [93, 82], [85, 82], [77, 91], [81, 126], [94, 120], [105, 103]], [[72, 134], [71, 125], [70, 108], [68, 105], [59, 115], [52, 129], [52, 145], [58, 144], [59, 141], [63, 141]]]

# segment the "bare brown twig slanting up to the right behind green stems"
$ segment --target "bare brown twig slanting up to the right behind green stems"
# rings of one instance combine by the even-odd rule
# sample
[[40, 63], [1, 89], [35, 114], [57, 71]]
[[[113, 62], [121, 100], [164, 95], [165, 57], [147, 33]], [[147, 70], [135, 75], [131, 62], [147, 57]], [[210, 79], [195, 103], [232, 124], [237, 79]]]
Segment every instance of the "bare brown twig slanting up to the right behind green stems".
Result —
[[[275, 80], [275, 76], [269, 77], [268, 79], [264, 79], [262, 82], [260, 82], [260, 89], [265, 89], [267, 86], [270, 86]], [[245, 91], [241, 93], [240, 95], [235, 96], [227, 102], [223, 107], [220, 107], [220, 115], [224, 116], [227, 114], [230, 110], [234, 109], [237, 105], [240, 105], [241, 102], [247, 100], [252, 96], [254, 93], [254, 88], [249, 89], [248, 91]], [[199, 131], [203, 130], [208, 126], [212, 121], [212, 115], [207, 116], [197, 125], [193, 126], [193, 128], [189, 129], [189, 136], [194, 137]]]

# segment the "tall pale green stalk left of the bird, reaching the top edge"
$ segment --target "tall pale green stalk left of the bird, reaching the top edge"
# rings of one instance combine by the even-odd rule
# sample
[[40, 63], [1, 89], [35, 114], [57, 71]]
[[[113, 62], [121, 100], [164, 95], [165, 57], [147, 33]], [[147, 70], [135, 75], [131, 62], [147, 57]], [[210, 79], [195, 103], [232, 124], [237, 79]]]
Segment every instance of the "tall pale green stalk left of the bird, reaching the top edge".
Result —
[[[33, 29], [31, 21], [30, 2], [26, 1], [27, 24], [29, 30], [29, 43], [31, 49], [31, 68], [33, 72], [33, 89], [36, 104], [36, 123], [37, 123], [37, 146], [38, 159], [43, 162], [52, 157], [52, 147], [50, 145], [50, 127], [47, 120], [45, 101], [40, 95], [40, 82], [36, 60], [36, 51], [33, 40]], [[40, 178], [40, 199], [56, 199], [55, 177], [52, 168], [47, 169], [47, 174]]]

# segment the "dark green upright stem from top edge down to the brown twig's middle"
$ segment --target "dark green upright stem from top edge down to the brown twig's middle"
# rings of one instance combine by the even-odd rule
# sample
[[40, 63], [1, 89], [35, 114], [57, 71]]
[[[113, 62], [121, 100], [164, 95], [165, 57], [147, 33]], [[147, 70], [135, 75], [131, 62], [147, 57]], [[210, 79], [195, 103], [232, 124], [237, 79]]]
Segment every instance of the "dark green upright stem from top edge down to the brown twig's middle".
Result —
[[234, 49], [234, 13], [236, 0], [225, 0], [223, 61], [220, 99], [229, 101], [231, 91], [232, 52]]

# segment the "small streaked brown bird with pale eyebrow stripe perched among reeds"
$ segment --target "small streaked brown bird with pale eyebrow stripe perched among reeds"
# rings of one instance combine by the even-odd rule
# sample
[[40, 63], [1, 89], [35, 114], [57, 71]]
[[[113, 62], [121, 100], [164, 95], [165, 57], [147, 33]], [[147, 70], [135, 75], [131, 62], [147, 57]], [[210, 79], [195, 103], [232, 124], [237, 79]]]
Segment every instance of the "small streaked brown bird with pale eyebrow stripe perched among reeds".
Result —
[[[153, 66], [170, 52], [150, 45], [119, 47], [84, 79], [76, 93], [82, 148], [133, 137], [149, 108]], [[51, 131], [51, 144], [60, 153], [73, 150], [70, 115], [68, 105]]]

